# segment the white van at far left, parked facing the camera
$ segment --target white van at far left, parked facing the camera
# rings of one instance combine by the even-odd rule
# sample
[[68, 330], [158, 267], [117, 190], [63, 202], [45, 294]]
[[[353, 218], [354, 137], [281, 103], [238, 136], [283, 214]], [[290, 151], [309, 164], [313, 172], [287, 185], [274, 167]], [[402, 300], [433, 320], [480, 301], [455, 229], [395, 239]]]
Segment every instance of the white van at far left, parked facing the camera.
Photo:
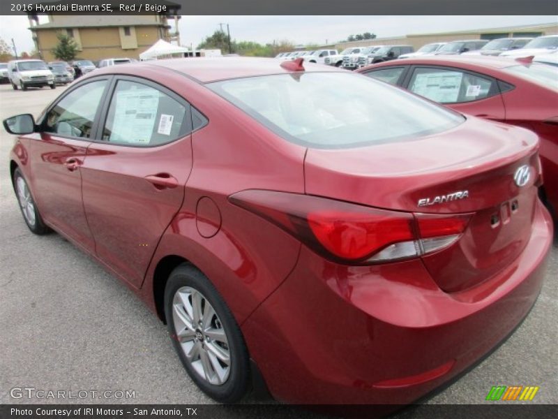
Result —
[[8, 62], [8, 78], [14, 90], [19, 87], [27, 90], [27, 87], [50, 86], [56, 89], [54, 74], [40, 59], [15, 59]]

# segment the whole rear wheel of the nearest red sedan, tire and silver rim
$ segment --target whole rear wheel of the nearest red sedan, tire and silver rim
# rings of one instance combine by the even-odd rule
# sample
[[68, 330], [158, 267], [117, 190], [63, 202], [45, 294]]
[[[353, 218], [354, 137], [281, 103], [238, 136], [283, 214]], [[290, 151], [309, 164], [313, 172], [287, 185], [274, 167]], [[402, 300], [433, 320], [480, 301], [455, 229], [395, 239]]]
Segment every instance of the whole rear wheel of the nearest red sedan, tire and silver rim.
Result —
[[176, 353], [197, 386], [218, 402], [242, 399], [250, 381], [242, 333], [216, 288], [192, 265], [170, 274], [165, 316]]

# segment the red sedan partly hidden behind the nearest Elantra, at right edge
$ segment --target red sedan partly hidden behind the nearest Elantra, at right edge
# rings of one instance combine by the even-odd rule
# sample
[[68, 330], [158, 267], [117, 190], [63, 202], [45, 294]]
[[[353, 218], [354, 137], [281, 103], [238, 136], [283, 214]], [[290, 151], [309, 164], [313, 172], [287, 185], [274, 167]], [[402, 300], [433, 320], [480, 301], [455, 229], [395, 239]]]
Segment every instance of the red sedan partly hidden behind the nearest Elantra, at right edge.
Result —
[[558, 219], [558, 68], [498, 57], [417, 57], [362, 68], [459, 112], [522, 126], [541, 139], [541, 195]]

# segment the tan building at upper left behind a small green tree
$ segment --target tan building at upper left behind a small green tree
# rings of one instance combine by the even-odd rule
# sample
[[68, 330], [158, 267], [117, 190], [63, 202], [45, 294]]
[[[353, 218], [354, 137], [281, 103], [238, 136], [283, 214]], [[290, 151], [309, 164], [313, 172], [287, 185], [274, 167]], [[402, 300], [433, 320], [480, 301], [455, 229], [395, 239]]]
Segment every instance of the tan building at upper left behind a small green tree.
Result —
[[[168, 13], [168, 12], [167, 12]], [[60, 32], [71, 36], [77, 44], [77, 58], [98, 61], [105, 58], [137, 59], [158, 40], [180, 42], [176, 15], [47, 15], [48, 22], [39, 24], [37, 15], [29, 15], [29, 29], [40, 57], [54, 61], [52, 49]], [[174, 20], [171, 31], [169, 17]]]

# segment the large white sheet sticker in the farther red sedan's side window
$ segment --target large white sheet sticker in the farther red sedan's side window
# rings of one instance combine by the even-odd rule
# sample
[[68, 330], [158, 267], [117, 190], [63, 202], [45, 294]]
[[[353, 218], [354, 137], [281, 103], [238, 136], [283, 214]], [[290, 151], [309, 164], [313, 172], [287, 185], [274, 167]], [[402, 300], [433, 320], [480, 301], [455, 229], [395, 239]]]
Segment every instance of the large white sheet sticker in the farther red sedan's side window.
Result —
[[449, 71], [417, 74], [411, 90], [431, 101], [457, 102], [462, 78], [463, 73]]

